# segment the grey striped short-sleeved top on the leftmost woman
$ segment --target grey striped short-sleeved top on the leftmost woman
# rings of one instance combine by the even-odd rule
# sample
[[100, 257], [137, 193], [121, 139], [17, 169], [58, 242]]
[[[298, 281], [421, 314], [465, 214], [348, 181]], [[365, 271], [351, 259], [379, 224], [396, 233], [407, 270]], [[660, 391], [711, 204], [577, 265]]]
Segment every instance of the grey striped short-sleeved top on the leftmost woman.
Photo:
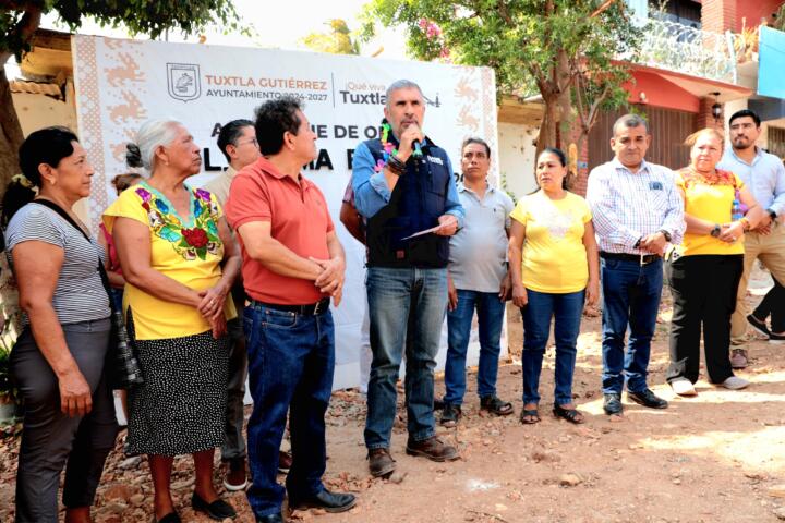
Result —
[[[11, 219], [5, 231], [7, 254], [12, 270], [13, 250], [24, 242], [37, 241], [63, 250], [52, 306], [61, 325], [108, 318], [109, 297], [98, 272], [105, 251], [95, 239], [88, 242], [53, 210], [38, 204], [27, 204]], [[29, 321], [22, 315], [22, 324]]]

